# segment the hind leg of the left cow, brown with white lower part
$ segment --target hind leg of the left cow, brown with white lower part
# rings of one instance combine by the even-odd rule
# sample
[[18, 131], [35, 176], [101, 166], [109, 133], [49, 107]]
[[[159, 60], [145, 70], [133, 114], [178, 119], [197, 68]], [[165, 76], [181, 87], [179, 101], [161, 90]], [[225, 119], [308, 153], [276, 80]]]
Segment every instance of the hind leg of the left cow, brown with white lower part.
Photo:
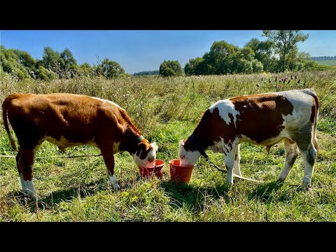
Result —
[[23, 193], [29, 195], [31, 199], [37, 200], [36, 191], [32, 181], [34, 157], [34, 148], [20, 148], [16, 160]]

